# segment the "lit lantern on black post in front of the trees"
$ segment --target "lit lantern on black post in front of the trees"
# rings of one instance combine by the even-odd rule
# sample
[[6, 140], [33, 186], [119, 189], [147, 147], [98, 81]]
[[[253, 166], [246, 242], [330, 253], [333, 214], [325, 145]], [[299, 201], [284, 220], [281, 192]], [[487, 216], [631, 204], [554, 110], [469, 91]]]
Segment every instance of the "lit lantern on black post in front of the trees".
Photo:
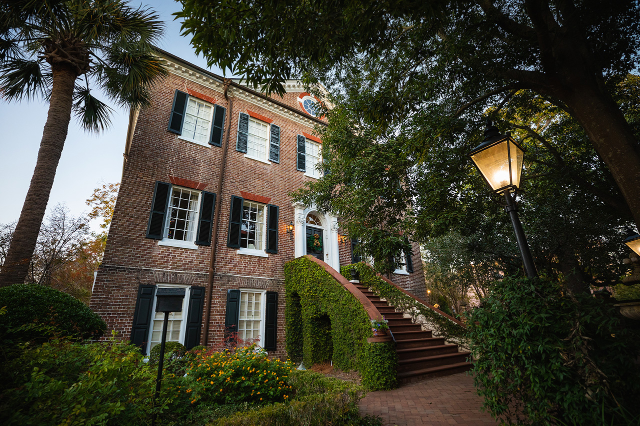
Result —
[[513, 225], [516, 242], [524, 264], [524, 272], [529, 278], [538, 276], [527, 237], [522, 229], [520, 217], [518, 217], [518, 206], [515, 201], [515, 191], [520, 186], [520, 175], [522, 175], [524, 150], [511, 136], [500, 134], [498, 128], [492, 125], [491, 120], [487, 120], [484, 140], [470, 152], [469, 156], [493, 192], [504, 196], [506, 201], [504, 209], [511, 218], [511, 225]]

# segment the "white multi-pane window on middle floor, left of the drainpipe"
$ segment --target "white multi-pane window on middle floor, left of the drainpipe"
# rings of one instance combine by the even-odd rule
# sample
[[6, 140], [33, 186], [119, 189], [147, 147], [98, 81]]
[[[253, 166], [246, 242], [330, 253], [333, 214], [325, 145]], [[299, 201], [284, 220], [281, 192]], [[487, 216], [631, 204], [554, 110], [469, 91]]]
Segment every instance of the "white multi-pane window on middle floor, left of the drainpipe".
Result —
[[166, 238], [190, 242], [195, 240], [196, 228], [198, 227], [199, 200], [199, 191], [172, 187], [168, 218], [164, 230]]

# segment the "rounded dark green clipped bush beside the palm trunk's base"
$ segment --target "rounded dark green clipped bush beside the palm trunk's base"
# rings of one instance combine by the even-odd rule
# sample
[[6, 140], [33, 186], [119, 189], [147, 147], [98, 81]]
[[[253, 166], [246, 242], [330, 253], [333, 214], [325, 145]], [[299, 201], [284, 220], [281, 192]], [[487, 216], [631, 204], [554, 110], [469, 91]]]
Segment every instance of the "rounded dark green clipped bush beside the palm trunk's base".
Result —
[[53, 336], [97, 339], [107, 325], [78, 299], [51, 287], [14, 284], [0, 288], [0, 339], [44, 342]]

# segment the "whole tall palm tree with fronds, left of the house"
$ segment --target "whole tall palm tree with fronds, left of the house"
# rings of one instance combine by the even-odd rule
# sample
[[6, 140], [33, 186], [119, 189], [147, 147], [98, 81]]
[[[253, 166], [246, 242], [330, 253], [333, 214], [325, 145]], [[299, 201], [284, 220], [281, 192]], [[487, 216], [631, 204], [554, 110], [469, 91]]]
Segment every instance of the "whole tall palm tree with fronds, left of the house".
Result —
[[89, 131], [109, 125], [113, 110], [93, 97], [90, 85], [120, 106], [147, 106], [150, 85], [166, 74], [152, 53], [163, 28], [155, 12], [124, 0], [0, 1], [0, 96], [49, 100], [38, 161], [0, 286], [26, 277], [72, 111]]

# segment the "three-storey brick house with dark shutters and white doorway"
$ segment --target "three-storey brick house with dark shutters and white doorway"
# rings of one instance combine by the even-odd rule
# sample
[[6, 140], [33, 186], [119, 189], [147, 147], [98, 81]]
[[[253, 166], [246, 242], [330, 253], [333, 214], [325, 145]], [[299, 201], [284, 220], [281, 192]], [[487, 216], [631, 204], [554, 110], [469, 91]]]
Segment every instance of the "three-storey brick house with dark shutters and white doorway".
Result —
[[[184, 288], [168, 340], [223, 342], [225, 327], [284, 356], [285, 262], [352, 263], [338, 218], [289, 193], [321, 177], [315, 99], [296, 81], [265, 95], [158, 51], [169, 75], [131, 113], [120, 193], [91, 308], [148, 353], [160, 340], [158, 288]], [[419, 253], [417, 244], [413, 252]], [[393, 280], [426, 297], [422, 262]]]

